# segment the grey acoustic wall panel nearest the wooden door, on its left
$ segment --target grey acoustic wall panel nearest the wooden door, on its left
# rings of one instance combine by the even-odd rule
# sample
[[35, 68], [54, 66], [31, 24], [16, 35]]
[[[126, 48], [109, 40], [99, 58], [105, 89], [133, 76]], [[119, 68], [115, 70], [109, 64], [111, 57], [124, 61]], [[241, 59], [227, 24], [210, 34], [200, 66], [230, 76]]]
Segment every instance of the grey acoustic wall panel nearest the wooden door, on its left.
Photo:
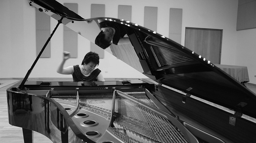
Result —
[[169, 39], [181, 44], [182, 9], [170, 8]]

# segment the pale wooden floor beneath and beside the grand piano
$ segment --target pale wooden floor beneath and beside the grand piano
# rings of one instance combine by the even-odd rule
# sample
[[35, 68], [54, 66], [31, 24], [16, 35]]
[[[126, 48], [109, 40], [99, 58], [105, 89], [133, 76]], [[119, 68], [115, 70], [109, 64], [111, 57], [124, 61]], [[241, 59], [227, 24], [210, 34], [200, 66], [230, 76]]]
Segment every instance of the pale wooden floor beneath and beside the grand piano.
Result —
[[[22, 129], [9, 124], [6, 90], [18, 80], [0, 81], [0, 142], [1, 143], [23, 143]], [[256, 93], [256, 85], [247, 83], [247, 88]], [[50, 139], [42, 134], [33, 132], [34, 143], [52, 143]]]

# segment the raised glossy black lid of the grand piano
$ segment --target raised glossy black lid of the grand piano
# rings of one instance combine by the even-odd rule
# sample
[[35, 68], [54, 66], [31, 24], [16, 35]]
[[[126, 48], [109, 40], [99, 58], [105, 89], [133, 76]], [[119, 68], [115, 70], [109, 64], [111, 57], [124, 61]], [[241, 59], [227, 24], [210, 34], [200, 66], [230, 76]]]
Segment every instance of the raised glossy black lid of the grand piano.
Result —
[[253, 92], [210, 61], [163, 35], [125, 20], [83, 19], [55, 0], [29, 0], [29, 3], [56, 20], [64, 17], [64, 25], [93, 43], [100, 32], [99, 20], [124, 27], [144, 75], [160, 86], [166, 85], [188, 96], [229, 108], [238, 115], [256, 118], [256, 95]]

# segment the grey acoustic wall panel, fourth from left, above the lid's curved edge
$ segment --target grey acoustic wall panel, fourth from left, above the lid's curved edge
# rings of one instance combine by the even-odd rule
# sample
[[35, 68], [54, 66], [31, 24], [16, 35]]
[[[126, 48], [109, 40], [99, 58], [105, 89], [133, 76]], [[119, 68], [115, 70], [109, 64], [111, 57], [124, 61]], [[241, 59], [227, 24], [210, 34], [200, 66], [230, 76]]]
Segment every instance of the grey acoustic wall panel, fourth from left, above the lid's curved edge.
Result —
[[118, 5], [118, 19], [131, 21], [131, 6]]

